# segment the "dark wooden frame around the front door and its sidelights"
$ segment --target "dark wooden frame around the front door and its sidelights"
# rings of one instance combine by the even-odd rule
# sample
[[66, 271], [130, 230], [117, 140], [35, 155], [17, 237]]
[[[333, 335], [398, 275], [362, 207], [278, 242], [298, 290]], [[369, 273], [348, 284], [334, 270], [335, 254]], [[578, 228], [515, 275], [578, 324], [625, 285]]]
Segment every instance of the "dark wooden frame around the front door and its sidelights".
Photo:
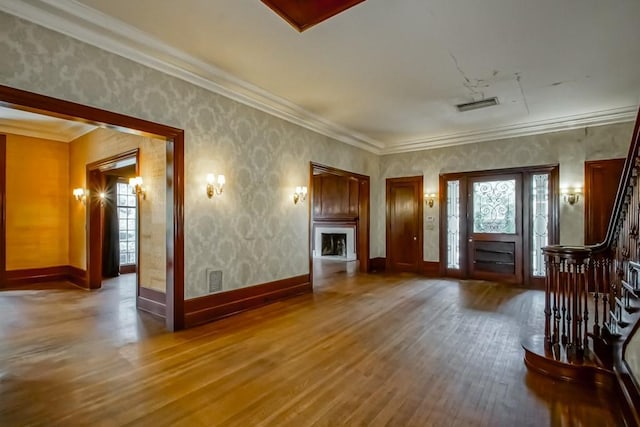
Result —
[[[549, 194], [549, 244], [559, 243], [560, 239], [560, 166], [556, 164], [540, 165], [540, 166], [526, 166], [520, 168], [505, 168], [505, 169], [491, 169], [483, 171], [469, 171], [469, 172], [453, 172], [440, 174], [440, 275], [447, 277], [467, 278], [469, 272], [467, 271], [467, 253], [466, 250], [460, 251], [460, 269], [450, 270], [447, 268], [447, 181], [459, 180], [460, 181], [460, 194], [468, 193], [468, 178], [469, 177], [484, 177], [488, 175], [499, 175], [521, 173], [522, 174], [522, 265], [523, 265], [523, 284], [525, 286], [532, 286], [536, 288], [544, 287], [544, 277], [533, 278], [531, 276], [531, 259], [529, 258], [529, 248], [531, 247], [531, 175], [536, 173], [548, 173], [549, 174], [549, 186], [551, 192]], [[467, 211], [466, 197], [460, 197], [460, 212]], [[468, 230], [466, 218], [460, 221], [460, 241], [466, 242], [468, 240]], [[466, 246], [466, 244], [465, 244]]]

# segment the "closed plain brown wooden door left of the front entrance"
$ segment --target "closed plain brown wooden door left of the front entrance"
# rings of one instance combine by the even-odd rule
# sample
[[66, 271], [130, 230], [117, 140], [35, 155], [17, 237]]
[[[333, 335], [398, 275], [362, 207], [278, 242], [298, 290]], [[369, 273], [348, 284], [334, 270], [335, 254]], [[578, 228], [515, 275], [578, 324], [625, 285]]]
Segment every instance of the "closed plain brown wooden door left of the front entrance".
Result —
[[422, 269], [422, 188], [422, 176], [386, 181], [386, 267], [390, 271]]

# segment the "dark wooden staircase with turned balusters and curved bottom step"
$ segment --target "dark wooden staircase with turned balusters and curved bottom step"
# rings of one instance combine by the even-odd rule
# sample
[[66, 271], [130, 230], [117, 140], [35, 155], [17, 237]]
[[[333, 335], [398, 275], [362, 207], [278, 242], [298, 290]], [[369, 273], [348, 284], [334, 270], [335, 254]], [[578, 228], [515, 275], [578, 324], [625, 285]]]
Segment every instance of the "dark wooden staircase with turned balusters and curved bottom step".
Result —
[[[544, 334], [522, 344], [529, 369], [604, 391], [630, 425], [640, 425], [639, 127], [640, 112], [605, 240], [543, 248]], [[632, 342], [635, 353], [627, 354]]]

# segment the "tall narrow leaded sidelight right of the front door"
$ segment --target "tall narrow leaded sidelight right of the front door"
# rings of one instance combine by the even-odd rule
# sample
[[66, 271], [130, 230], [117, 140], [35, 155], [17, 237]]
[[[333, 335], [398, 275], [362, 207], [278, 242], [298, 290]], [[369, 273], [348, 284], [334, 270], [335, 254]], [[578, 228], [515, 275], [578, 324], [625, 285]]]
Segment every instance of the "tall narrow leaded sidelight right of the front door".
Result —
[[542, 248], [549, 244], [549, 175], [533, 175], [531, 180], [532, 273], [545, 275]]

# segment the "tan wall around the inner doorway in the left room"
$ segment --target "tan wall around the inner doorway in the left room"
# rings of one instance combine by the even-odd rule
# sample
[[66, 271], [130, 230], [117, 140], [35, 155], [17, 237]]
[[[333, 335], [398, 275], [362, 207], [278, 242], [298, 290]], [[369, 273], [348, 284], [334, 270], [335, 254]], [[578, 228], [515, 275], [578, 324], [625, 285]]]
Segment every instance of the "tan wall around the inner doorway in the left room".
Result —
[[[136, 148], [140, 149], [140, 168], [146, 200], [139, 206], [140, 283], [164, 292], [165, 274], [165, 143], [152, 138], [99, 128], [72, 141], [69, 150], [69, 181], [71, 188], [86, 188], [86, 166]], [[70, 264], [87, 268], [86, 206], [73, 201], [70, 209]], [[152, 225], [151, 225], [152, 224]]]

